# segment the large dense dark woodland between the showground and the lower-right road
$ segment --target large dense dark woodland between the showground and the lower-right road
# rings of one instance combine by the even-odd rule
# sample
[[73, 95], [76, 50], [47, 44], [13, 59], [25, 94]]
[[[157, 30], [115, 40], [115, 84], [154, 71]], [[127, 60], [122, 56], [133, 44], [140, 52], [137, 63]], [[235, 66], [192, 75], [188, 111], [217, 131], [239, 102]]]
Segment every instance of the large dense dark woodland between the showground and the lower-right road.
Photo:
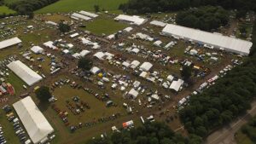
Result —
[[[256, 43], [255, 26], [253, 43]], [[179, 112], [190, 134], [206, 136], [250, 108], [256, 96], [255, 49], [256, 45], [253, 44], [251, 56], [241, 66], [236, 66], [224, 78], [219, 78], [201, 95], [191, 96], [189, 105]]]

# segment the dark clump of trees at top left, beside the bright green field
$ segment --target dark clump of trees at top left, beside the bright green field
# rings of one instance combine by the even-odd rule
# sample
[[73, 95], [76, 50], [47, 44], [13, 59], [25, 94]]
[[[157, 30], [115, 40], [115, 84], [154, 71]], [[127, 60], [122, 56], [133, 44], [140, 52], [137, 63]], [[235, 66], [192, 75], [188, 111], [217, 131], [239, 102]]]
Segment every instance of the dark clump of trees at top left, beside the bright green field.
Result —
[[10, 9], [14, 9], [19, 14], [31, 14], [37, 9], [41, 9], [58, 0], [21, 0], [16, 3], [7, 5]]

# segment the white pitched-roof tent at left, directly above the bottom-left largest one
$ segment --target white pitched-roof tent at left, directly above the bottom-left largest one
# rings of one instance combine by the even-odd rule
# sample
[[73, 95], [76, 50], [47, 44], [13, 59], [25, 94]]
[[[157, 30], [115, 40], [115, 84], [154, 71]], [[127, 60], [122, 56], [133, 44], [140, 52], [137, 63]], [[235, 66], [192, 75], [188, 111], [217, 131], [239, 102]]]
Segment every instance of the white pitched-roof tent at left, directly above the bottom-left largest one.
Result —
[[20, 77], [27, 85], [32, 86], [43, 79], [37, 72], [32, 71], [20, 60], [13, 61], [7, 65], [10, 70]]

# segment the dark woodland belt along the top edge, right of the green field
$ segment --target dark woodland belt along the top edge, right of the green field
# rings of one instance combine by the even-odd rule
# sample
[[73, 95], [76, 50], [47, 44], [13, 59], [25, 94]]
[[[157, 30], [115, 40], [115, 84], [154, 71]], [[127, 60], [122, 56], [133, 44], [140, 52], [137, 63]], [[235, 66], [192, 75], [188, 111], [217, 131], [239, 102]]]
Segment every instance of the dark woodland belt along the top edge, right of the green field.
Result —
[[205, 5], [222, 6], [224, 9], [256, 10], [256, 0], [129, 0], [119, 9], [130, 14], [177, 11]]

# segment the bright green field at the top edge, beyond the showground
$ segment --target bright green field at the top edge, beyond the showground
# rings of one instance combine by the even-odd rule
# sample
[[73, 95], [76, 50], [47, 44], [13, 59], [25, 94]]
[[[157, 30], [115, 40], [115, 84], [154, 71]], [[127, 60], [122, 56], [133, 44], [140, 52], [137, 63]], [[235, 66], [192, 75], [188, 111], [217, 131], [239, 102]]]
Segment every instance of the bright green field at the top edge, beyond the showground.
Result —
[[39, 9], [36, 13], [57, 13], [77, 10], [94, 11], [94, 5], [96, 4], [100, 6], [101, 10], [116, 11], [120, 3], [126, 2], [127, 0], [60, 0], [43, 9]]

